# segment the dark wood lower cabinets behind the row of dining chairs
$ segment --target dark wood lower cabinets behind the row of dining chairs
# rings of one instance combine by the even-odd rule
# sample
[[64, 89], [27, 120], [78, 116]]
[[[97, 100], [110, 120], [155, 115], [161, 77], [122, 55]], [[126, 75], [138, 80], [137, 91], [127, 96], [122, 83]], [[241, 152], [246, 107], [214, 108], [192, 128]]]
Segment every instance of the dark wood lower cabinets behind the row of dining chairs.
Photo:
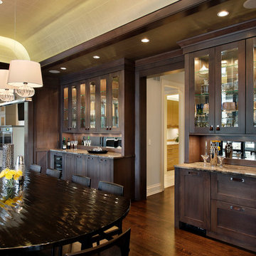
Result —
[[124, 186], [124, 196], [134, 198], [134, 161], [132, 157], [104, 157], [93, 154], [74, 154], [67, 151], [50, 151], [50, 168], [54, 159], [61, 156], [63, 170], [61, 178], [71, 181], [73, 174], [90, 177], [91, 187], [97, 188], [99, 181], [110, 181]]

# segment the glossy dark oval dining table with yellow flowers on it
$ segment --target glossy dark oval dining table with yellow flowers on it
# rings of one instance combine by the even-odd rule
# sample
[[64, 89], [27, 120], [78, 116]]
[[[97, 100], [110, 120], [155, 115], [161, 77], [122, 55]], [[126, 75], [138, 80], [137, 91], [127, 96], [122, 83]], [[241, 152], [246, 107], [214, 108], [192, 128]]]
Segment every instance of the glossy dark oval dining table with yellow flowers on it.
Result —
[[26, 171], [9, 203], [0, 182], [0, 255], [58, 247], [110, 228], [130, 201], [76, 183]]

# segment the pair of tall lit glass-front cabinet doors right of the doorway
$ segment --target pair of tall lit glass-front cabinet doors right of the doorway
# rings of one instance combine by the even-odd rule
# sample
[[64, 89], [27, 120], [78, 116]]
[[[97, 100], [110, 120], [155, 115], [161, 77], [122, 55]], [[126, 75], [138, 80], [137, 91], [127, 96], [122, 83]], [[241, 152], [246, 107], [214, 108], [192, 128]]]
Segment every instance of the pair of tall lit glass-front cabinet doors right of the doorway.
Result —
[[245, 133], [245, 40], [189, 54], [190, 132]]

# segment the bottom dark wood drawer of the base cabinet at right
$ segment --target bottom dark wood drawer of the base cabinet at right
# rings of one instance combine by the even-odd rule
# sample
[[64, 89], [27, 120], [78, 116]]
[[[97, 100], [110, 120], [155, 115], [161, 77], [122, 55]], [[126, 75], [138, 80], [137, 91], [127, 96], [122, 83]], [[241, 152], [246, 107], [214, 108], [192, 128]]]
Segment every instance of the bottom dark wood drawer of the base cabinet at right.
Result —
[[256, 250], [256, 209], [222, 201], [211, 201], [211, 230], [214, 238]]

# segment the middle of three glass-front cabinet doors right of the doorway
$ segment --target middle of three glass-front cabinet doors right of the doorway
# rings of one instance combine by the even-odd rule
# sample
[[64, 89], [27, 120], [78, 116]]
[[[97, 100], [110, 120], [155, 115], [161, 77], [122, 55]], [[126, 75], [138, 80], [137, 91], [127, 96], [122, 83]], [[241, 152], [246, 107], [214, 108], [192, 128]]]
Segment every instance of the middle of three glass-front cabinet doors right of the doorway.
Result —
[[245, 41], [215, 48], [215, 132], [245, 132]]

